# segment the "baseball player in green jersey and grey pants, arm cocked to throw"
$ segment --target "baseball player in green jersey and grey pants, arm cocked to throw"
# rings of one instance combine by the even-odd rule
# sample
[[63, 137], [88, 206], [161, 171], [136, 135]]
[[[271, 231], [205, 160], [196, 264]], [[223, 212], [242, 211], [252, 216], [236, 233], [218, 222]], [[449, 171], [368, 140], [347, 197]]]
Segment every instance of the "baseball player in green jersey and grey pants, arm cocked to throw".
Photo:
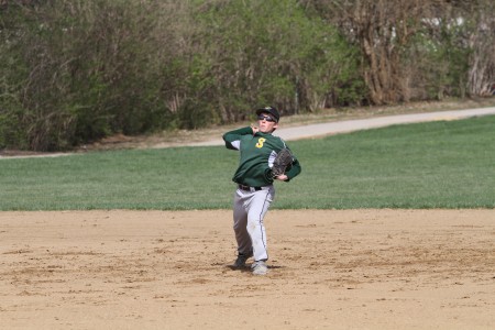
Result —
[[255, 275], [268, 272], [266, 232], [263, 219], [275, 197], [274, 179], [289, 182], [300, 170], [298, 160], [290, 154], [290, 164], [283, 174], [274, 176], [274, 163], [286, 143], [272, 133], [278, 128], [277, 109], [256, 110], [257, 127], [241, 128], [223, 134], [226, 147], [240, 151], [239, 167], [232, 178], [237, 184], [233, 201], [233, 230], [238, 243], [238, 258], [233, 268], [244, 268], [253, 256], [251, 270]]

